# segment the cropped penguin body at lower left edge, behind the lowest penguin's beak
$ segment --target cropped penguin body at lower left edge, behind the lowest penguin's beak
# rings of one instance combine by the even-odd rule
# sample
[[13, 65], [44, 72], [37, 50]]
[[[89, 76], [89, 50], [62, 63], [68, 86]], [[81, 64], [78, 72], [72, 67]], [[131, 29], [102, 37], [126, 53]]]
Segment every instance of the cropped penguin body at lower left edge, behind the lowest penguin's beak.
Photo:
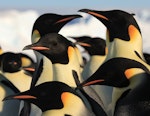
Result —
[[0, 74], [0, 115], [1, 116], [11, 116], [18, 115], [20, 103], [18, 101], [7, 101], [2, 102], [2, 100], [11, 94], [18, 93], [19, 90], [15, 88], [13, 84]]

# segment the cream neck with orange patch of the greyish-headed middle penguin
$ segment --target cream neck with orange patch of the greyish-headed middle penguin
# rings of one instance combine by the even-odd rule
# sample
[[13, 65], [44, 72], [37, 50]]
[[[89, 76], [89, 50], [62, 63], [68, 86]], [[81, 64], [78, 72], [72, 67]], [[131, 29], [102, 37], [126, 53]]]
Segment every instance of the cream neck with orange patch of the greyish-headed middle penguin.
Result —
[[69, 48], [68, 51], [69, 62], [68, 64], [54, 63], [53, 67], [53, 79], [55, 81], [62, 81], [70, 86], [76, 87], [72, 70], [78, 73], [79, 80], [82, 81], [80, 74], [80, 63], [73, 47]]

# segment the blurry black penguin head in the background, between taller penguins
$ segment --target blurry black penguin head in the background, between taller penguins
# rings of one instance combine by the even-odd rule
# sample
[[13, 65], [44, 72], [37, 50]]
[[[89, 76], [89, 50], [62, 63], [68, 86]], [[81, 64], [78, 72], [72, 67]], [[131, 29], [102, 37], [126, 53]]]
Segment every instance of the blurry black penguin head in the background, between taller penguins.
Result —
[[106, 42], [100, 37], [71, 37], [76, 40], [76, 44], [84, 47], [90, 55], [106, 55]]

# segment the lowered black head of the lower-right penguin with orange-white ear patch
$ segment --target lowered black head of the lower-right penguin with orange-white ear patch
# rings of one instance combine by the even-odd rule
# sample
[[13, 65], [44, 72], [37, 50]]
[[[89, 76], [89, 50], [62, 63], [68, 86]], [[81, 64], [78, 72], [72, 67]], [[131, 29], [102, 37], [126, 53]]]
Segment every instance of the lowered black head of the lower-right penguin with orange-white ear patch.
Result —
[[104, 62], [99, 69], [81, 86], [107, 85], [113, 87], [127, 87], [130, 79], [140, 73], [150, 74], [149, 70], [140, 62], [127, 58], [112, 58]]

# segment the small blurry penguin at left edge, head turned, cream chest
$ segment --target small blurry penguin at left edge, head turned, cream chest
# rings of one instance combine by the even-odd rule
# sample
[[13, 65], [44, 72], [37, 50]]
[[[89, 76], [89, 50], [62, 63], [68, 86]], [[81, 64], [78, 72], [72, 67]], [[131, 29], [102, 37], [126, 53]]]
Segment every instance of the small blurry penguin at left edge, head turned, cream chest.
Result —
[[[22, 53], [5, 52], [1, 56], [1, 74], [19, 91], [30, 88], [34, 72], [34, 61]], [[33, 70], [29, 71], [29, 68]]]

